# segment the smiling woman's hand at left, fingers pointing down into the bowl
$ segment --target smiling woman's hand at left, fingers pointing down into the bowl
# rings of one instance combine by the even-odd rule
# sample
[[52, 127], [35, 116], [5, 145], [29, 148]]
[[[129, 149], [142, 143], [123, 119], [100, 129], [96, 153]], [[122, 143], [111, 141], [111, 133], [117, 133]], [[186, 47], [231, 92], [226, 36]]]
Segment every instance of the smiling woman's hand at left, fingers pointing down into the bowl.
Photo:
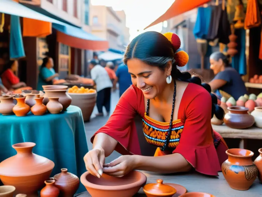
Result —
[[105, 151], [102, 147], [93, 148], [84, 156], [86, 170], [90, 174], [100, 178], [103, 174], [103, 165], [105, 163]]

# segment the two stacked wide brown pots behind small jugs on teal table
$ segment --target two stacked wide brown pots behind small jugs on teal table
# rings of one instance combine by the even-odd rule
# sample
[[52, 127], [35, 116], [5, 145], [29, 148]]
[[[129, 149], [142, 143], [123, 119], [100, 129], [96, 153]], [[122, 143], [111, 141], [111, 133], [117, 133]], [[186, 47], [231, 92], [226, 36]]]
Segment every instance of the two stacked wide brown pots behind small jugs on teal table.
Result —
[[[42, 87], [45, 91], [44, 100], [43, 100], [44, 105], [47, 105], [50, 97], [58, 98], [59, 103], [61, 103], [63, 106], [62, 111], [65, 111], [71, 104], [72, 98], [67, 94], [68, 86], [48, 85], [48, 86], [42, 86]], [[48, 106], [47, 106], [47, 109], [48, 109]], [[48, 109], [48, 111], [50, 110]]]

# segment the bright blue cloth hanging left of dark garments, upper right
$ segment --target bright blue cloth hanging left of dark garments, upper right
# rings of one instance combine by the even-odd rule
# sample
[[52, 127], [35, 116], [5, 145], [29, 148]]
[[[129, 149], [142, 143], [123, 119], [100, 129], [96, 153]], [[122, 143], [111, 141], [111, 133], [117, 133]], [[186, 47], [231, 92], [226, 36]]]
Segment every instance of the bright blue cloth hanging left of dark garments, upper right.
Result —
[[196, 39], [206, 39], [211, 20], [212, 7], [199, 7], [193, 34]]

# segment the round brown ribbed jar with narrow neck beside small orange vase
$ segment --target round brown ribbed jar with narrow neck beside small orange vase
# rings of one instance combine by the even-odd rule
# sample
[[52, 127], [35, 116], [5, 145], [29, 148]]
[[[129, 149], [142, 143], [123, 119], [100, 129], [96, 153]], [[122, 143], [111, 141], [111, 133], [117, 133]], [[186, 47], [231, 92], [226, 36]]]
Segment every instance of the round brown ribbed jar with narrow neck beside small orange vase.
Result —
[[55, 185], [60, 190], [62, 197], [73, 197], [79, 188], [79, 178], [67, 172], [66, 168], [61, 169], [61, 173], [54, 175]]

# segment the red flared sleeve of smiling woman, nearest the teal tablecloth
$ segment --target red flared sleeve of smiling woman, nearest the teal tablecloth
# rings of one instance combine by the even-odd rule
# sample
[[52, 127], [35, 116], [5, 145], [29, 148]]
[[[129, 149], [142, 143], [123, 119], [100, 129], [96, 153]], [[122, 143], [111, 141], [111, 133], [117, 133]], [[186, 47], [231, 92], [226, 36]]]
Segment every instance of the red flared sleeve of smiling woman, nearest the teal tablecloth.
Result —
[[[106, 133], [118, 141], [116, 151], [120, 154], [141, 155], [134, 117], [142, 100], [134, 86], [130, 86], [120, 97], [113, 114], [105, 126], [91, 138], [93, 143], [97, 133]], [[144, 101], [143, 101], [144, 102]]]

